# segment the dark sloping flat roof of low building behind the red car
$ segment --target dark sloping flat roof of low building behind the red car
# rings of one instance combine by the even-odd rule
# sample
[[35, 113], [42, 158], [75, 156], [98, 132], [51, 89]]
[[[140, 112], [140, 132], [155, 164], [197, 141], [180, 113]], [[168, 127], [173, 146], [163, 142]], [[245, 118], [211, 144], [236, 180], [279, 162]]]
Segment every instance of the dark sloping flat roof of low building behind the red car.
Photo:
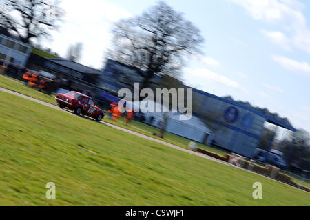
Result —
[[74, 61], [70, 61], [68, 59], [48, 59], [49, 61], [59, 64], [61, 66], [65, 66], [77, 72], [81, 72], [84, 74], [101, 74], [101, 71], [96, 70], [94, 68], [90, 68], [88, 66], [84, 66], [81, 63], [76, 63]]

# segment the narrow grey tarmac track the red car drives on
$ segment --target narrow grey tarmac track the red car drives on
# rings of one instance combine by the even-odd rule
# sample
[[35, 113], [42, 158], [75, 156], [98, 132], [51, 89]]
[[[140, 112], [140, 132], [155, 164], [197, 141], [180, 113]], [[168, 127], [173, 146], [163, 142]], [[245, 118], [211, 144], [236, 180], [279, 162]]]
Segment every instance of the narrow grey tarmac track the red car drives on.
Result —
[[[38, 100], [38, 99], [34, 99], [34, 98], [32, 98], [32, 97], [28, 97], [28, 96], [26, 96], [26, 95], [24, 95], [24, 94], [20, 94], [20, 93], [18, 93], [18, 92], [14, 92], [14, 91], [8, 90], [8, 89], [6, 89], [6, 88], [1, 88], [1, 87], [0, 87], [0, 91], [1, 91], [1, 92], [6, 92], [6, 93], [9, 93], [9, 94], [13, 94], [13, 95], [16, 95], [17, 97], [21, 97], [21, 98], [24, 98], [24, 99], [28, 99], [28, 100], [30, 100], [30, 101], [37, 102], [37, 103], [39, 103], [39, 104], [41, 104], [41, 105], [48, 106], [48, 107], [50, 107], [50, 108], [54, 108], [54, 109], [56, 109], [56, 110], [61, 110], [61, 111], [63, 111], [63, 112], [67, 112], [67, 113], [69, 113], [69, 114], [72, 114], [72, 112], [69, 111], [69, 110], [61, 109], [61, 108], [59, 108], [58, 106], [52, 105], [52, 104], [50, 104], [50, 103], [46, 103], [46, 102], [44, 102], [44, 101], [40, 101], [40, 100]], [[56, 101], [55, 101], [55, 102], [56, 102]], [[75, 114], [74, 114], [74, 115], [75, 115]], [[83, 117], [83, 116], [77, 116], [77, 115], [76, 115], [76, 117]], [[84, 118], [90, 119], [89, 117], [84, 117]], [[90, 119], [90, 120], [94, 120], [94, 119]], [[94, 123], [97, 123], [97, 122], [94, 121]], [[206, 155], [206, 154], [202, 154], [202, 153], [200, 153], [200, 152], [195, 152], [195, 151], [193, 151], [193, 150], [188, 150], [188, 149], [185, 149], [185, 148], [181, 148], [181, 147], [179, 147], [179, 146], [175, 146], [175, 145], [172, 144], [172, 143], [167, 143], [167, 142], [165, 142], [165, 141], [161, 141], [161, 140], [159, 140], [159, 139], [155, 139], [154, 137], [149, 137], [149, 136], [147, 136], [147, 135], [145, 135], [145, 134], [141, 134], [141, 133], [138, 133], [138, 132], [134, 132], [134, 131], [128, 130], [128, 129], [126, 129], [126, 128], [121, 128], [121, 127], [118, 127], [118, 126], [114, 126], [114, 125], [112, 125], [112, 124], [110, 124], [110, 123], [107, 123], [107, 122], [105, 122], [105, 121], [101, 121], [101, 123], [103, 123], [103, 124], [106, 125], [106, 126], [110, 126], [110, 127], [112, 127], [112, 128], [115, 128], [115, 129], [117, 129], [117, 130], [122, 130], [123, 132], [127, 132], [127, 133], [130, 133], [130, 134], [136, 135], [136, 136], [138, 136], [138, 137], [142, 137], [142, 138], [147, 139], [147, 140], [149, 140], [149, 141], [154, 141], [154, 142], [157, 142], [157, 143], [161, 143], [161, 144], [163, 144], [163, 145], [165, 145], [165, 146], [168, 146], [168, 147], [170, 147], [170, 148], [174, 148], [174, 149], [176, 149], [176, 150], [181, 150], [181, 151], [183, 151], [183, 152], [187, 152], [187, 153], [189, 153], [189, 154], [196, 155], [196, 156], [198, 156], [198, 157], [203, 157], [203, 158], [209, 159], [209, 160], [211, 160], [211, 161], [216, 161], [216, 162], [218, 162], [218, 163], [226, 164], [226, 165], [228, 165], [228, 166], [234, 166], [234, 165], [232, 165], [231, 163], [227, 163], [227, 162], [225, 162], [225, 161], [221, 161], [221, 160], [216, 159], [216, 158], [214, 158], [214, 157], [209, 157], [209, 156]], [[234, 166], [234, 167], [235, 167], [235, 168], [238, 168], [238, 169], [241, 169], [241, 170], [246, 170], [247, 172], [251, 172], [251, 173], [260, 175], [260, 176], [262, 176], [262, 177], [266, 177], [266, 176], [264, 176], [264, 175], [262, 175], [262, 174], [258, 174], [258, 173], [256, 173], [256, 172], [252, 172], [252, 171], [250, 171], [250, 170], [247, 170], [247, 169], [244, 169], [244, 168], [240, 168], [240, 167], [238, 167], [238, 166]], [[267, 177], [267, 178], [271, 179], [270, 177]], [[274, 180], [274, 181], [277, 181], [276, 179], [273, 179], [273, 180]], [[278, 181], [278, 182], [283, 183], [283, 182], [281, 182], [281, 181]], [[283, 183], [283, 184], [286, 184], [287, 186], [291, 186], [291, 185], [289, 185], [289, 184], [287, 184], [287, 183]], [[295, 187], [295, 186], [291, 186], [291, 187], [297, 188], [297, 187]], [[298, 189], [301, 190], [300, 188], [298, 188]], [[304, 190], [303, 190], [303, 191], [304, 191]]]

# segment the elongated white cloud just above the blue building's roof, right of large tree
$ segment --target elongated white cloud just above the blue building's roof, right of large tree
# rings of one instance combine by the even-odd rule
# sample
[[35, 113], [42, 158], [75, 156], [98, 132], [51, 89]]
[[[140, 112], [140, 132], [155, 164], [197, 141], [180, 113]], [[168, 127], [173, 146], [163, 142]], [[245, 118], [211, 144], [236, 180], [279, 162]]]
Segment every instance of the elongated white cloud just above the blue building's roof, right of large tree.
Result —
[[241, 90], [242, 92], [247, 92], [247, 90], [245, 90], [245, 88], [242, 88], [238, 82], [233, 81], [216, 72], [208, 70], [207, 68], [196, 68], [196, 69], [185, 68], [184, 72], [186, 72], [187, 75], [196, 77], [196, 79], [200, 79], [204, 82], [211, 81], [214, 83], [222, 84], [223, 86], [227, 86], [229, 88]]

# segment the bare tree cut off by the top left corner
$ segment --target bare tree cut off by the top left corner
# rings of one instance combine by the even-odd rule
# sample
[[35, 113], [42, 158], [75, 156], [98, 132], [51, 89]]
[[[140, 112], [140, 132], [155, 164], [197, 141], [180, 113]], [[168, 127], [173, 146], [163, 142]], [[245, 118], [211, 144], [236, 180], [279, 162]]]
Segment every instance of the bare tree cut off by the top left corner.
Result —
[[2, 0], [0, 26], [30, 43], [30, 39], [50, 36], [49, 30], [59, 27], [63, 14], [59, 1]]

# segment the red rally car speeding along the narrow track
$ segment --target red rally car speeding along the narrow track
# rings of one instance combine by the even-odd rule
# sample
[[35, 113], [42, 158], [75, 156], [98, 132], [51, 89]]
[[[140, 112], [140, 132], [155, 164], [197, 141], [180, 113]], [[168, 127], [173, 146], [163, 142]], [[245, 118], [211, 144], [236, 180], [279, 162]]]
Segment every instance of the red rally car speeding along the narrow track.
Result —
[[55, 98], [60, 108], [68, 107], [74, 114], [87, 115], [96, 121], [101, 121], [105, 117], [105, 112], [95, 105], [94, 99], [80, 92], [59, 93]]

